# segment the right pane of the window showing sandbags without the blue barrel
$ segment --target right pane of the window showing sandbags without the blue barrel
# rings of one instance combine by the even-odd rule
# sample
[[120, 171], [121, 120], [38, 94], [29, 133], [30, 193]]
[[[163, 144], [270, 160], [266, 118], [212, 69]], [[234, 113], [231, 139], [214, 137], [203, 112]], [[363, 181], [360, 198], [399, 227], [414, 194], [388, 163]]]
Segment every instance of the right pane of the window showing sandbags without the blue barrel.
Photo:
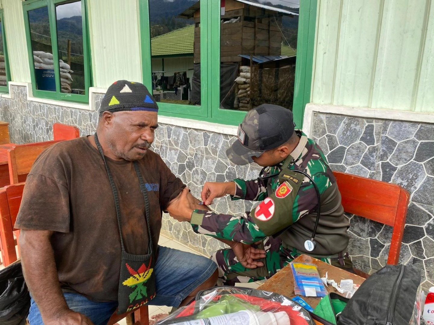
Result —
[[81, 1], [56, 6], [62, 93], [85, 94]]

